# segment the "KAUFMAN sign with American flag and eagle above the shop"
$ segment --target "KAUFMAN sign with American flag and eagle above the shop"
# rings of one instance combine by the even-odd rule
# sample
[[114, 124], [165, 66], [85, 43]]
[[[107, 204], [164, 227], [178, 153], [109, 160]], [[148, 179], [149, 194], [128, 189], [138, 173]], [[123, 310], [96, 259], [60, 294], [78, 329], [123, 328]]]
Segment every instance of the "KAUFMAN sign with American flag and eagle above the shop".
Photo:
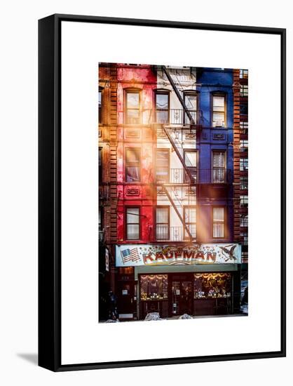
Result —
[[116, 267], [240, 262], [240, 244], [200, 244], [186, 247], [147, 244], [116, 246]]

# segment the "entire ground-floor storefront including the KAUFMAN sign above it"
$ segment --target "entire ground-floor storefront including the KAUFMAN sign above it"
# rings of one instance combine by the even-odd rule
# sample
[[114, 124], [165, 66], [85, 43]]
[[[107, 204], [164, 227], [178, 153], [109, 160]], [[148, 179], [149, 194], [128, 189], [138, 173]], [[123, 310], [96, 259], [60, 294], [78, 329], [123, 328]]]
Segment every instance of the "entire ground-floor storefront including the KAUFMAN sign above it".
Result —
[[[233, 253], [229, 253], [231, 246]], [[156, 252], [150, 253], [150, 248]], [[129, 291], [135, 291], [135, 319], [144, 319], [149, 312], [158, 312], [161, 318], [236, 312], [234, 305], [240, 295], [238, 244], [194, 248], [128, 245], [117, 247], [117, 252], [118, 266], [134, 268]]]

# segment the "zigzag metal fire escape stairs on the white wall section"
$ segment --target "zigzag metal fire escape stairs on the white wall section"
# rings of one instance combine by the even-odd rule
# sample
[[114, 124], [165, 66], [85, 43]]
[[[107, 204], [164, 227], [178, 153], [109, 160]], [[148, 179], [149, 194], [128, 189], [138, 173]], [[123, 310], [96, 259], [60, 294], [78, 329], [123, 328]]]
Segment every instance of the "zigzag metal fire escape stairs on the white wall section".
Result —
[[[194, 191], [196, 191], [196, 185], [198, 183], [197, 171], [196, 171], [196, 168], [190, 168], [189, 166], [186, 165], [186, 161], [188, 161], [188, 159], [184, 157], [184, 147], [182, 145], [182, 140], [178, 138], [177, 133], [178, 131], [181, 131], [181, 133], [182, 131], [184, 131], [184, 133], [186, 133], [186, 131], [189, 131], [191, 135], [194, 135], [194, 133], [196, 133], [196, 128], [198, 128], [198, 125], [196, 124], [196, 121], [194, 120], [193, 115], [186, 107], [184, 99], [182, 98], [182, 95], [178, 90], [175, 84], [175, 81], [172, 79], [172, 76], [168, 72], [168, 69], [165, 66], [161, 66], [161, 70], [163, 74], [165, 74], [170, 85], [172, 86], [172, 89], [175, 92], [175, 95], [177, 96], [180, 102], [180, 105], [182, 105], [181, 119], [179, 119], [179, 121], [181, 121], [182, 123], [181, 128], [174, 128], [170, 126], [170, 123], [168, 120], [167, 123], [161, 124], [161, 129], [162, 129], [163, 136], [165, 136], [165, 138], [168, 138], [170, 144], [172, 145], [172, 149], [177, 154], [177, 157], [180, 163], [182, 164], [183, 173], [179, 173], [179, 169], [178, 169], [177, 174], [179, 173], [179, 178], [177, 175], [176, 182], [174, 178], [171, 178], [170, 182], [161, 182], [157, 180], [156, 186], [158, 191], [161, 191], [162, 194], [165, 194], [168, 197], [168, 200], [172, 204], [172, 207], [174, 208], [175, 213], [177, 213], [177, 216], [180, 222], [182, 222], [183, 229], [187, 235], [187, 238], [185, 237], [184, 239], [188, 239], [189, 241], [194, 241], [196, 239], [196, 235], [193, 235], [189, 228], [189, 225], [188, 225], [189, 213], [186, 213], [186, 212], [184, 213], [182, 194], [180, 197], [180, 195], [177, 193], [177, 187], [180, 186], [181, 189], [183, 187], [186, 188], [188, 202], [190, 204], [190, 199], [191, 199], [190, 195], [192, 193], [194, 194]], [[178, 112], [177, 112], [177, 116], [178, 116]], [[194, 140], [196, 140], [196, 135], [194, 135], [193, 138]]]

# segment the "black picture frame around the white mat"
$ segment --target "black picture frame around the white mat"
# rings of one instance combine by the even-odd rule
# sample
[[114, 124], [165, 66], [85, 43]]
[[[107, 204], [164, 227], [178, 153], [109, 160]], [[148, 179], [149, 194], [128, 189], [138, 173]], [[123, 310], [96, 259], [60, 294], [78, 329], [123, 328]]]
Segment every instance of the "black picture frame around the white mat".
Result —
[[[61, 22], [110, 23], [225, 32], [276, 34], [281, 40], [281, 331], [280, 351], [245, 354], [61, 364]], [[286, 29], [137, 20], [83, 15], [50, 15], [39, 20], [39, 366], [51, 371], [120, 368], [285, 357], [286, 355]]]

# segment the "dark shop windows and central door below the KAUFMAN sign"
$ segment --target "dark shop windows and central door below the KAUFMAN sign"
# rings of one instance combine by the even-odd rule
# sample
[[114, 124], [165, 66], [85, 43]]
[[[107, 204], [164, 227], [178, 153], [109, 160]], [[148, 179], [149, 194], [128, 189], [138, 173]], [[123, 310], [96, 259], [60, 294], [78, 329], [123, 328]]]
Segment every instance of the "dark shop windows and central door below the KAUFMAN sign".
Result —
[[230, 272], [139, 274], [140, 319], [231, 314]]

